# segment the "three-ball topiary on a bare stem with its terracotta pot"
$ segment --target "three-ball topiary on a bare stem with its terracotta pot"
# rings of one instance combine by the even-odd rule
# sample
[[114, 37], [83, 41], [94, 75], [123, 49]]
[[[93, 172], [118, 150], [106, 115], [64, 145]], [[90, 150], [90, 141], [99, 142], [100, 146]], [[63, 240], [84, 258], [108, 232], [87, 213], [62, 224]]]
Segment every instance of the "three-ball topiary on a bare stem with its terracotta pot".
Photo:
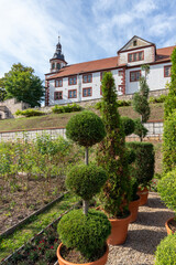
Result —
[[67, 188], [82, 199], [84, 210], [69, 212], [58, 223], [57, 231], [63, 242], [57, 248], [58, 263], [105, 265], [108, 258], [106, 241], [111, 225], [106, 214], [88, 209], [89, 200], [107, 180], [102, 168], [88, 165], [88, 147], [102, 140], [105, 126], [96, 114], [82, 112], [70, 118], [66, 135], [86, 148], [86, 165], [73, 167], [66, 177]]

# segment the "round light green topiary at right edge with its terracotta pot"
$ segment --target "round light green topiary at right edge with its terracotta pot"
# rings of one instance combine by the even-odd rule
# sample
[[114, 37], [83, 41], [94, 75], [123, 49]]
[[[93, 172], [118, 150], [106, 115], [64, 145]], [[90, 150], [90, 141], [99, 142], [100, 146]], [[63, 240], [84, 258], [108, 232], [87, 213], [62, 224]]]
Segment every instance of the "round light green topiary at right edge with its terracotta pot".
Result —
[[[162, 200], [176, 215], [176, 168], [165, 173], [158, 181], [157, 190]], [[176, 216], [166, 221], [165, 223], [167, 234], [176, 232]]]

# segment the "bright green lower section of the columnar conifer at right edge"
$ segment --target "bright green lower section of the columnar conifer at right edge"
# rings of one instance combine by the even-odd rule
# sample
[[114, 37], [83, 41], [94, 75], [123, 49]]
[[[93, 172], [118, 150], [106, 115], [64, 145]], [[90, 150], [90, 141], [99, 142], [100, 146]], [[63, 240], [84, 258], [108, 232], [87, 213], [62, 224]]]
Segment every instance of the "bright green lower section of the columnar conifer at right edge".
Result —
[[163, 170], [168, 172], [176, 167], [176, 109], [164, 121]]

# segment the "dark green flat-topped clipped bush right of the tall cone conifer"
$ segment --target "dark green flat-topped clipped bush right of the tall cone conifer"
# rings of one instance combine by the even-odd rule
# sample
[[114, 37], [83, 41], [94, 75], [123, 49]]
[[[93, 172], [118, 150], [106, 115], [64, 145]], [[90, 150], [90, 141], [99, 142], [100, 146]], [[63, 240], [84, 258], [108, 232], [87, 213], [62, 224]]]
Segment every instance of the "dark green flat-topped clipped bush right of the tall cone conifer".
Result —
[[150, 142], [127, 142], [135, 152], [135, 161], [131, 166], [131, 177], [139, 186], [146, 187], [154, 174], [154, 147]]

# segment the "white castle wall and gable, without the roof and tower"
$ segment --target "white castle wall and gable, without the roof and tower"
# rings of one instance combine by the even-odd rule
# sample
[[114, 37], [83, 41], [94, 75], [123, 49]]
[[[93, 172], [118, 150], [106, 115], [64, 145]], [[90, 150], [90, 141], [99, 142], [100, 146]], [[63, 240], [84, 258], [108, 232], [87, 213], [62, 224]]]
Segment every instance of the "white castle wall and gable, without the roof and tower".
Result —
[[[57, 44], [58, 45], [58, 44]], [[163, 51], [165, 51], [163, 49]], [[168, 51], [168, 50], [167, 50]], [[167, 52], [168, 53], [168, 52]], [[124, 45], [119, 52], [117, 56], [117, 65], [112, 65], [112, 67], [107, 67], [103, 71], [111, 71], [116, 87], [117, 87], [117, 94], [133, 94], [139, 91], [140, 88], [140, 82], [139, 82], [139, 73], [141, 75], [144, 75], [144, 73], [141, 71], [141, 66], [143, 64], [150, 65], [150, 73], [147, 75], [147, 84], [150, 87], [150, 91], [158, 91], [164, 89], [166, 87], [166, 83], [170, 82], [170, 77], [165, 76], [165, 66], [170, 66], [170, 59], [169, 55], [167, 57], [163, 55], [164, 61], [156, 60], [156, 56], [158, 59], [162, 59], [162, 55], [157, 55], [157, 51], [155, 47], [155, 44], [146, 42], [140, 38], [132, 38], [132, 40]], [[136, 60], [138, 59], [138, 60]], [[167, 60], [166, 60], [167, 59]], [[107, 59], [107, 62], [110, 59]], [[52, 62], [52, 60], [51, 60]], [[97, 61], [89, 62], [94, 65], [94, 63]], [[84, 63], [82, 63], [84, 64]], [[81, 64], [75, 65], [78, 67]], [[74, 66], [73, 66], [74, 68]], [[67, 73], [66, 71], [69, 70], [69, 65], [63, 68], [63, 73]], [[56, 104], [66, 104], [66, 103], [76, 103], [76, 102], [84, 102], [84, 100], [92, 100], [101, 98], [101, 75], [102, 70], [94, 70], [94, 71], [81, 71], [82, 74], [73, 74], [69, 73], [68, 76], [62, 76], [62, 72], [57, 73], [51, 73], [47, 74], [46, 82], [47, 82], [47, 104], [46, 105], [56, 105]], [[84, 75], [91, 75], [91, 82], [84, 83]], [[57, 77], [58, 76], [58, 77]], [[69, 77], [75, 76], [77, 82], [74, 85], [69, 84]], [[62, 80], [62, 86], [56, 87], [55, 81]], [[84, 96], [84, 89], [90, 88], [89, 93], [90, 95]], [[70, 91], [75, 91], [76, 97], [70, 98], [68, 96], [68, 93]], [[57, 93], [62, 94], [62, 98], [57, 98], [55, 96]], [[69, 94], [70, 95], [70, 94]]]

